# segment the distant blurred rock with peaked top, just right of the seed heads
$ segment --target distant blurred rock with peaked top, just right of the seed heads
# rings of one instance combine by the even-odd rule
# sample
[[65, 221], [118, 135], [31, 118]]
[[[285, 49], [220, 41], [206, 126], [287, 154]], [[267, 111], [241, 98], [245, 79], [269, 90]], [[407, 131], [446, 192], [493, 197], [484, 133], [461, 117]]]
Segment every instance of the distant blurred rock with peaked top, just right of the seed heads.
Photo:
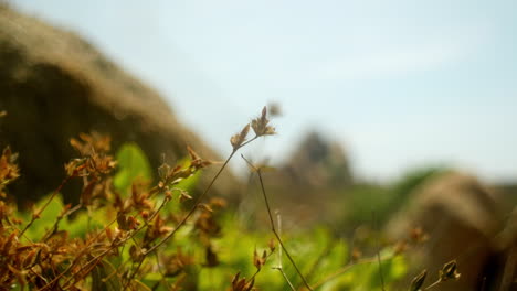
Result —
[[[250, 181], [251, 192], [260, 192], [257, 181]], [[274, 197], [273, 207], [281, 205], [286, 226], [309, 226], [335, 219], [329, 204], [335, 204], [336, 195], [342, 194], [351, 183], [345, 150], [318, 132], [307, 133], [284, 164], [264, 173], [265, 188]], [[241, 213], [254, 213], [267, 223], [267, 217], [260, 215], [262, 207], [262, 200], [247, 196], [240, 208]]]

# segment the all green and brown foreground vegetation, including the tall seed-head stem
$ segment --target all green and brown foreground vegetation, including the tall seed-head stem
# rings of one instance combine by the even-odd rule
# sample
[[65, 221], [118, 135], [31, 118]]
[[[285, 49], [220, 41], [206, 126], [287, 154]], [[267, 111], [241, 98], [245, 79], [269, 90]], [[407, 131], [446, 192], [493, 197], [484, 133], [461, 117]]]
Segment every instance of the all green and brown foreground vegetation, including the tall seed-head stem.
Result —
[[[255, 136], [247, 140], [252, 129]], [[136, 144], [110, 155], [109, 138], [98, 133], [71, 139], [78, 158], [66, 177], [32, 209], [18, 211], [8, 186], [19, 175], [9, 148], [0, 159], [0, 290], [393, 290], [407, 274], [403, 250], [416, 244], [380, 246], [371, 257], [326, 228], [282, 233], [272, 213], [262, 166], [249, 163], [260, 181], [271, 231], [239, 224], [224, 200], [210, 190], [238, 151], [274, 134], [267, 110], [231, 138], [232, 152], [218, 164], [192, 149], [177, 165], [152, 170]], [[207, 188], [190, 193], [202, 169], [219, 166]], [[80, 203], [64, 205], [61, 190], [83, 181]], [[423, 288], [457, 279], [455, 262]]]

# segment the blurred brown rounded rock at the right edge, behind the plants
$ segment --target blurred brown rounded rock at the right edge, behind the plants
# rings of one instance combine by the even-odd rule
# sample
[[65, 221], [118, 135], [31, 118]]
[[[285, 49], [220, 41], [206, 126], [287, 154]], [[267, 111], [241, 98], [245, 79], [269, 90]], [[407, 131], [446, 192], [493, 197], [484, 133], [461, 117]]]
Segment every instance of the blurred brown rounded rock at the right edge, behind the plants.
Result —
[[[437, 277], [443, 263], [456, 259], [461, 279], [439, 289], [479, 290], [485, 266], [496, 252], [494, 238], [500, 227], [495, 197], [486, 186], [454, 172], [431, 179], [413, 193], [408, 208], [389, 223], [388, 231], [403, 238], [414, 227], [422, 227], [429, 240], [410, 254], [413, 266]], [[412, 274], [419, 271], [413, 269]]]

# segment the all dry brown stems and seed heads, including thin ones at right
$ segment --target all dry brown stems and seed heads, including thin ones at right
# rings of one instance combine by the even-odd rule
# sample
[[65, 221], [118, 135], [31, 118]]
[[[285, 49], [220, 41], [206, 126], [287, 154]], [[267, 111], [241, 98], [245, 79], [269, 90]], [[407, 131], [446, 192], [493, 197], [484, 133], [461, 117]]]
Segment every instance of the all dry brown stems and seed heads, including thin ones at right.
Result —
[[[250, 129], [255, 136], [247, 139]], [[78, 157], [65, 165], [65, 179], [25, 219], [19, 218], [21, 215], [7, 194], [9, 184], [20, 176], [20, 171], [15, 164], [17, 154], [6, 148], [0, 157], [0, 290], [196, 290], [199, 268], [215, 268], [223, 263], [214, 240], [223, 231], [218, 214], [225, 207], [225, 202], [209, 197], [210, 190], [241, 148], [260, 137], [275, 133], [264, 107], [260, 117], [231, 137], [231, 153], [199, 195], [188, 193], [179, 185], [214, 163], [201, 158], [190, 147], [187, 149], [190, 158], [187, 165], [163, 163], [157, 171], [156, 184], [137, 180], [127, 193], [123, 193], [113, 182], [117, 161], [110, 154], [109, 137], [96, 132], [81, 133], [70, 141]], [[266, 168], [244, 160], [257, 173], [275, 239], [270, 241], [266, 250], [255, 248], [250, 260], [255, 272], [249, 279], [240, 271], [233, 279], [229, 277], [228, 290], [257, 290], [255, 279], [266, 269], [275, 252], [281, 263], [274, 269], [279, 270], [291, 290], [296, 288], [283, 270], [283, 254], [302, 280], [299, 290], [316, 290], [345, 273], [352, 265], [377, 260], [380, 263], [380, 256], [358, 256], [349, 265], [309, 284], [309, 277], [303, 274], [281, 237], [279, 218], [278, 225], [274, 223], [262, 176]], [[52, 218], [52, 226], [43, 229], [42, 235], [34, 236], [30, 230], [48, 214], [50, 205], [72, 179], [83, 182], [78, 204], [65, 205]], [[104, 222], [96, 227], [91, 226], [89, 216], [97, 213], [104, 215]], [[62, 225], [81, 214], [88, 216], [86, 231], [83, 236], [71, 236], [70, 229]], [[196, 244], [203, 250], [202, 256], [177, 244], [186, 237], [188, 244]], [[420, 231], [415, 237], [422, 238], [423, 234]], [[393, 256], [398, 254], [395, 251]], [[149, 273], [159, 274], [151, 284], [145, 282]], [[425, 277], [425, 272], [418, 277], [410, 290], [422, 290]], [[455, 262], [450, 262], [441, 270], [439, 281], [424, 290], [458, 277]], [[175, 280], [169, 280], [171, 278]]]

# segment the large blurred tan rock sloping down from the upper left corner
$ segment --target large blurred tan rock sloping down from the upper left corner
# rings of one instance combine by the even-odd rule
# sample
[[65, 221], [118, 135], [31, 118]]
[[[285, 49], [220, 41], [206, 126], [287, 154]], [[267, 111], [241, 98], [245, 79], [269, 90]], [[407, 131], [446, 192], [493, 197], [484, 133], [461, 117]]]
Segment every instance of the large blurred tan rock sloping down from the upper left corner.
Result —
[[[0, 119], [0, 146], [10, 144], [20, 153], [22, 177], [11, 188], [19, 200], [33, 201], [60, 184], [64, 163], [76, 157], [68, 139], [80, 132], [108, 133], [115, 150], [134, 141], [154, 168], [161, 164], [162, 154], [169, 163], [186, 157], [187, 144], [203, 158], [218, 158], [179, 123], [158, 93], [89, 43], [3, 4], [0, 94], [0, 110], [8, 112]], [[215, 192], [230, 194], [236, 185], [225, 174]]]

